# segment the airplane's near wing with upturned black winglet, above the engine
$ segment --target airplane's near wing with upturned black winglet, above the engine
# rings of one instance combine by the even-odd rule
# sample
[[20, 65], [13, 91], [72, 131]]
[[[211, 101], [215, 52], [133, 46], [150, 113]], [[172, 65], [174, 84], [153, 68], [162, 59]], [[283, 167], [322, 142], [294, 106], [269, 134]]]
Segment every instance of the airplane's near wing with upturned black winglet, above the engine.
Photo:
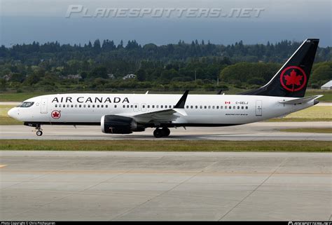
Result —
[[187, 116], [186, 111], [184, 110], [184, 105], [186, 104], [188, 92], [189, 91], [186, 90], [186, 92], [184, 93], [184, 95], [182, 95], [179, 102], [177, 102], [175, 107], [172, 109], [150, 111], [147, 113], [116, 114], [116, 115], [134, 118], [134, 120], [139, 123], [171, 123], [180, 116]]

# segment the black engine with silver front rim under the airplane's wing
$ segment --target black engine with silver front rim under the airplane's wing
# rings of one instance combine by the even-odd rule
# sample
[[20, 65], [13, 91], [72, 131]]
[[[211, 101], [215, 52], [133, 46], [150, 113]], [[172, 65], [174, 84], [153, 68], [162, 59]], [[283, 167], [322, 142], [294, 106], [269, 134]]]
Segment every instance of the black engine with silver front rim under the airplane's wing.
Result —
[[130, 134], [132, 132], [144, 131], [145, 128], [126, 116], [105, 115], [100, 121], [102, 132], [110, 134]]

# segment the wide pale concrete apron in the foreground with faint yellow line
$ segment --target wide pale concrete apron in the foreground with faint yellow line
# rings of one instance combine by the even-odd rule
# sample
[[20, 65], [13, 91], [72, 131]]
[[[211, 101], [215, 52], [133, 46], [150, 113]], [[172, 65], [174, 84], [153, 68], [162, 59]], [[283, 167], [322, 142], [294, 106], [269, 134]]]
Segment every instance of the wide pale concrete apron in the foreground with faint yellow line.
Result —
[[332, 154], [0, 151], [0, 220], [330, 220]]

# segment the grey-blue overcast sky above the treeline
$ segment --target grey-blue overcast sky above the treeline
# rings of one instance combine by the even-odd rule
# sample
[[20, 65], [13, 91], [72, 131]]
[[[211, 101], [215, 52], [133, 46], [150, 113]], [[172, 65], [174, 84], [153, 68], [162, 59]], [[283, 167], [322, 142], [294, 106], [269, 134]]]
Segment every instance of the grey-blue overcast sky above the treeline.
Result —
[[[81, 13], [71, 13], [70, 5], [83, 7]], [[87, 1], [87, 0], [0, 0], [0, 44], [39, 41], [87, 43], [95, 39], [113, 39], [139, 43], [177, 43], [198, 39], [212, 43], [266, 43], [283, 39], [302, 41], [319, 38], [320, 46], [332, 46], [331, 0], [319, 1]], [[230, 14], [232, 8], [263, 8], [258, 18], [200, 17], [186, 18], [84, 18], [97, 8], [221, 8]]]

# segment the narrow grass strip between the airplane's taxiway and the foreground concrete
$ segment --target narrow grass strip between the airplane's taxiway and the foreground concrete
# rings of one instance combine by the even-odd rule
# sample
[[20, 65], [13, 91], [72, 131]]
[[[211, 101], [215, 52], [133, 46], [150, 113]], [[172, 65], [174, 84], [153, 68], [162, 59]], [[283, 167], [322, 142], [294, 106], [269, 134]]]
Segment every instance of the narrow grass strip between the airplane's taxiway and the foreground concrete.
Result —
[[320, 141], [185, 141], [185, 140], [27, 140], [4, 139], [1, 150], [59, 151], [303, 151], [331, 152], [331, 142]]

